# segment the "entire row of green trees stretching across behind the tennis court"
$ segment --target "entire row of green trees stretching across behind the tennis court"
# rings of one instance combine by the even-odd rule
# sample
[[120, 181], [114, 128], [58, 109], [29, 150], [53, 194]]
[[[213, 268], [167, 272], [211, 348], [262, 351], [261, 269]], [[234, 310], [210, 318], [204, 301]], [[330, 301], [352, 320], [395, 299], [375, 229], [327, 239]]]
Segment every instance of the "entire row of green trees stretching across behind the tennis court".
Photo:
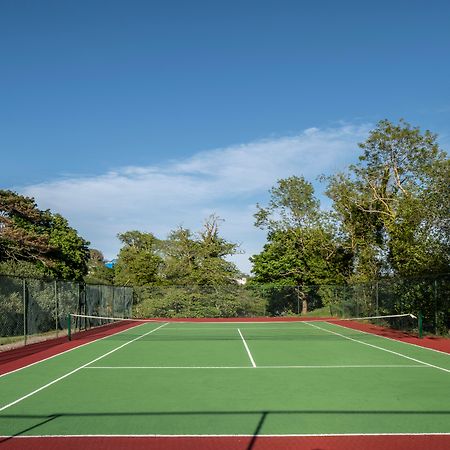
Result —
[[[292, 311], [298, 312], [300, 301], [306, 309], [308, 286], [448, 272], [450, 162], [437, 136], [402, 120], [382, 120], [359, 147], [356, 164], [321, 178], [332, 201], [329, 210], [321, 208], [312, 183], [301, 174], [279, 180], [268, 204], [256, 205], [255, 226], [267, 231], [267, 242], [251, 257], [248, 304], [269, 298], [268, 312], [278, 314], [289, 297]], [[219, 225], [219, 218], [211, 216], [199, 232], [180, 227], [165, 239], [125, 231], [118, 235], [117, 263], [108, 268], [101, 251], [89, 249], [61, 215], [3, 190], [0, 271], [134, 286], [140, 300], [159, 299], [150, 309], [142, 306], [146, 314], [238, 314], [234, 294], [222, 293], [227, 300], [219, 301], [219, 287], [237, 286], [242, 277], [229, 261], [238, 246], [220, 235]], [[257, 291], [258, 284], [277, 289]], [[180, 296], [179, 290], [169, 292], [170, 286], [189, 289]], [[323, 300], [326, 292], [316, 294]], [[200, 298], [202, 311], [196, 309]]]

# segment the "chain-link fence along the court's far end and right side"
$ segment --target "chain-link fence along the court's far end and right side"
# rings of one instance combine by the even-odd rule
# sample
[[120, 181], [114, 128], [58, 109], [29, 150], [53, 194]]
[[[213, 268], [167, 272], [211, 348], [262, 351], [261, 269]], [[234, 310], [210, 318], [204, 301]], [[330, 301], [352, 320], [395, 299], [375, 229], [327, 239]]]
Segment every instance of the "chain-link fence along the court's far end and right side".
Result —
[[[135, 288], [136, 318], [261, 317], [316, 315], [361, 318], [413, 314], [423, 330], [448, 335], [450, 274], [416, 279], [385, 279], [347, 285], [146, 286]], [[374, 323], [418, 331], [418, 319], [379, 319]]]

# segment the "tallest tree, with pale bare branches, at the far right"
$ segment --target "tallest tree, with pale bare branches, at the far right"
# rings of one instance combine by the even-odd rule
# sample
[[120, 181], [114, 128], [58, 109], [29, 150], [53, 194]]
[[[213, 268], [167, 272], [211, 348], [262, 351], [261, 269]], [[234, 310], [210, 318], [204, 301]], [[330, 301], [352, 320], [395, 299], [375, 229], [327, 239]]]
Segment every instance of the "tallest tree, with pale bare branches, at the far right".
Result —
[[327, 194], [355, 255], [355, 278], [448, 267], [449, 164], [436, 139], [403, 120], [382, 120], [359, 144], [359, 163], [329, 179]]

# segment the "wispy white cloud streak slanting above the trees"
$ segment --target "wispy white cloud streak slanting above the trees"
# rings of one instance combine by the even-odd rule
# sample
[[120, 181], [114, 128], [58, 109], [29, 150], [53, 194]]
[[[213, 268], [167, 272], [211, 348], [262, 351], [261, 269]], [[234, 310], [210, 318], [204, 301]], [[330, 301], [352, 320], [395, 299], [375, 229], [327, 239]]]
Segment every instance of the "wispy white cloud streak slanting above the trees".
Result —
[[203, 151], [160, 166], [118, 168], [108, 173], [25, 186], [41, 208], [68, 218], [92, 246], [113, 257], [117, 233], [139, 229], [160, 237], [183, 225], [199, 229], [216, 213], [223, 234], [239, 242], [245, 254], [236, 258], [244, 271], [248, 257], [260, 251], [264, 233], [253, 226], [256, 201], [280, 178], [303, 175], [313, 181], [322, 173], [342, 170], [357, 158], [356, 143], [368, 126], [310, 128], [277, 137]]

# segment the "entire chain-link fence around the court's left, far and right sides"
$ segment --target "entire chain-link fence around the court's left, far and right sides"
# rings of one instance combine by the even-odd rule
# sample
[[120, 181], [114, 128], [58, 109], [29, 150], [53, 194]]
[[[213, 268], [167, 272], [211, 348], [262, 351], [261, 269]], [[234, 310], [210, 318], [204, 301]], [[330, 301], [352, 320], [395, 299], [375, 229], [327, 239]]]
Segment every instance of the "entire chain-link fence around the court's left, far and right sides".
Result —
[[[423, 331], [449, 335], [450, 274], [320, 286], [86, 285], [0, 276], [0, 349], [67, 333], [67, 315], [131, 317], [372, 317], [414, 314]], [[83, 319], [73, 324], [87, 326]], [[399, 319], [400, 320], [400, 319]], [[375, 323], [417, 331], [418, 321]]]

